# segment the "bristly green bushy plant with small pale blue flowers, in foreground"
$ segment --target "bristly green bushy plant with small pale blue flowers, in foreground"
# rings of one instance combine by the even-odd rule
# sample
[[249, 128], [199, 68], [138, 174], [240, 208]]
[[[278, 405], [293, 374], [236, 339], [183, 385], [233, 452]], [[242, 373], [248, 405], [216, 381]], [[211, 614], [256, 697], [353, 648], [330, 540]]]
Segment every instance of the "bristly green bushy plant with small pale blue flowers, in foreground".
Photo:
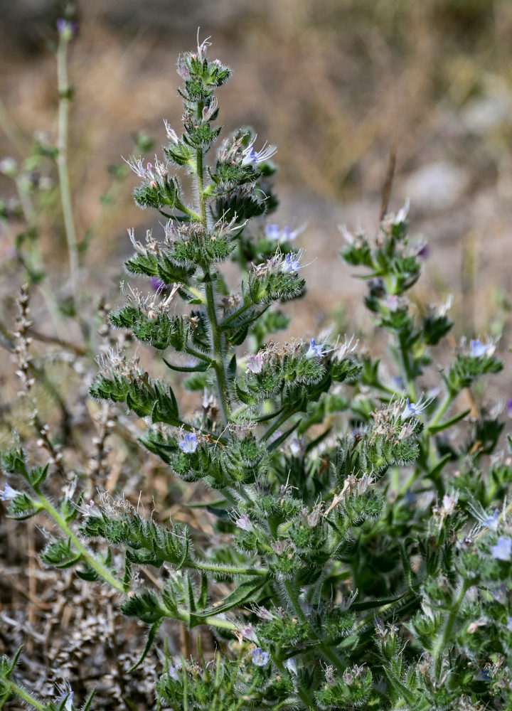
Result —
[[[494, 453], [496, 413], [468, 419], [455, 403], [501, 368], [495, 345], [464, 341], [425, 392], [451, 301], [412, 308], [424, 249], [407, 235], [407, 208], [375, 240], [342, 230], [343, 259], [366, 269], [366, 306], [390, 336], [389, 370], [357, 355], [353, 339], [268, 338], [287, 326], [276, 306], [304, 294], [308, 265], [290, 243], [297, 230], [267, 219], [274, 147], [241, 129], [213, 157], [214, 92], [230, 70], [208, 46], [178, 59], [181, 135], [166, 123], [164, 158], [128, 161], [142, 179], [135, 200], [167, 220], [161, 239], [130, 231], [127, 270], [157, 291], [124, 287], [127, 304], [110, 314], [161, 353], [172, 386], [112, 353], [90, 392], [144, 417], [141, 442], [169, 476], [215, 490], [215, 543], [194, 548], [185, 525], [159, 525], [106, 495], [84, 505], [67, 491], [55, 506], [43, 491], [48, 467], [31, 469], [22, 451], [5, 454], [3, 469], [26, 491], [6, 485], [1, 498], [11, 515], [45, 511], [61, 528], [46, 565], [104, 581], [150, 626], [139, 663], [168, 618], [215, 635], [209, 662], [164, 655], [158, 709], [510, 711], [511, 459]], [[175, 169], [193, 177], [192, 198]], [[235, 292], [221, 271], [230, 258]], [[201, 398], [196, 415], [178, 405], [180, 377]], [[454, 428], [464, 437], [450, 437]], [[147, 566], [161, 570], [160, 587], [141, 587], [133, 573]], [[0, 700], [21, 694], [13, 667], [4, 658]], [[57, 703], [72, 709], [73, 693]]]

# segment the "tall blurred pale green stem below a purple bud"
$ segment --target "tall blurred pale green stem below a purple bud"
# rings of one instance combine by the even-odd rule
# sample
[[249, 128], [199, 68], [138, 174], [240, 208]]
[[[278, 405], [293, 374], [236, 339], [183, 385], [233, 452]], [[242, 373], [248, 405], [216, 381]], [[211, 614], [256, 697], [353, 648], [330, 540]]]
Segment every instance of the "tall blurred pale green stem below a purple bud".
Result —
[[68, 85], [68, 65], [67, 65], [68, 39], [61, 34], [57, 48], [57, 80], [59, 92], [58, 105], [58, 136], [57, 136], [57, 168], [60, 186], [60, 201], [62, 203], [64, 229], [66, 242], [68, 244], [68, 257], [70, 266], [70, 282], [73, 288], [73, 299], [75, 310], [79, 312], [79, 274], [78, 274], [78, 251], [75, 231], [75, 221], [73, 218], [73, 208], [71, 203], [71, 188], [68, 171], [68, 127], [69, 127], [69, 105], [70, 87]]

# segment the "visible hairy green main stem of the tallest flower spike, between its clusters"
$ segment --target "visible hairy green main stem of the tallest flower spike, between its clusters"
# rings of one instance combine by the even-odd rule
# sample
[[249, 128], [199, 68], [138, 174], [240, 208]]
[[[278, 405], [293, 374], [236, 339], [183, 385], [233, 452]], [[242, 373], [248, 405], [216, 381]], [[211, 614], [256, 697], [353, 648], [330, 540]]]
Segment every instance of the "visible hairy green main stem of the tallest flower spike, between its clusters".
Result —
[[[203, 104], [200, 102], [198, 104], [198, 119], [201, 120], [203, 114]], [[208, 223], [206, 220], [206, 198], [204, 195], [204, 183], [203, 183], [203, 149], [198, 148], [197, 150], [197, 198], [199, 207], [199, 216], [201, 218], [201, 224], [205, 228], [208, 228]], [[227, 425], [230, 419], [230, 408], [228, 405], [228, 378], [225, 373], [224, 368], [224, 348], [223, 348], [223, 333], [220, 331], [219, 324], [217, 321], [217, 309], [215, 307], [215, 291], [213, 289], [213, 277], [208, 269], [203, 269], [204, 271], [204, 283], [205, 283], [205, 296], [206, 296], [206, 313], [208, 314], [208, 321], [210, 324], [210, 342], [213, 354], [213, 369], [215, 370], [215, 375], [217, 378], [217, 391], [218, 399], [220, 402], [220, 410], [223, 414], [224, 425]]]

